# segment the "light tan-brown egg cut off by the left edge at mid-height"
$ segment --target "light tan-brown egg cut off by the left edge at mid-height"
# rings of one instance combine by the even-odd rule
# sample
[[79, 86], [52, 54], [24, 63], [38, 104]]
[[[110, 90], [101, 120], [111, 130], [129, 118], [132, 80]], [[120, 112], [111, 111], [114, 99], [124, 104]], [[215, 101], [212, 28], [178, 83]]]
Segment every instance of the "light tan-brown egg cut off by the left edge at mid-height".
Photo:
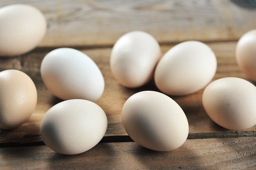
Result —
[[31, 78], [14, 69], [0, 72], [0, 129], [13, 129], [26, 122], [37, 102]]

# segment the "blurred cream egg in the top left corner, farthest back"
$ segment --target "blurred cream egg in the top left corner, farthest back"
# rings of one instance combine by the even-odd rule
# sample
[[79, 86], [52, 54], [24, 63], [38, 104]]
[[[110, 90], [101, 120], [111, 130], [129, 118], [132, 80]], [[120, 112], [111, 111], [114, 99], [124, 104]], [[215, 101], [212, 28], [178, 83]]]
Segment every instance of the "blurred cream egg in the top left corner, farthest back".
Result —
[[43, 13], [27, 4], [0, 8], [0, 56], [16, 56], [34, 49], [45, 36]]

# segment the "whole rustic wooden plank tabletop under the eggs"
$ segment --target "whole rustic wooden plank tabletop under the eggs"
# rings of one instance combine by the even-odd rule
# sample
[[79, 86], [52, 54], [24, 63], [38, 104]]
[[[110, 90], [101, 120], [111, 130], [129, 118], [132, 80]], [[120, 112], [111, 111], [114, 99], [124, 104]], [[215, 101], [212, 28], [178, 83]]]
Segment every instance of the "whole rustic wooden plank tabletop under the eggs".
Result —
[[[13, 3], [20, 0], [1, 0], [0, 7]], [[189, 136], [180, 148], [156, 152], [133, 142], [121, 123], [122, 106], [136, 92], [158, 90], [153, 81], [138, 89], [122, 87], [114, 80], [109, 66], [115, 41], [128, 31], [143, 30], [159, 41], [162, 54], [185, 40], [205, 42], [218, 59], [214, 80], [235, 76], [251, 81], [236, 64], [235, 47], [240, 36], [256, 28], [256, 9], [241, 7], [246, 4], [236, 0], [23, 0], [23, 3], [43, 11], [48, 32], [28, 54], [0, 58], [1, 71], [26, 72], [38, 90], [38, 104], [30, 119], [16, 129], [0, 132], [0, 169], [256, 169], [256, 126], [243, 131], [218, 126], [202, 107], [203, 90], [188, 96], [171, 96], [189, 121]], [[45, 112], [61, 101], [46, 89], [40, 77], [43, 57], [58, 47], [73, 47], [90, 56], [106, 82], [103, 96], [96, 103], [108, 116], [108, 130], [94, 148], [71, 156], [47, 148], [39, 133]]]

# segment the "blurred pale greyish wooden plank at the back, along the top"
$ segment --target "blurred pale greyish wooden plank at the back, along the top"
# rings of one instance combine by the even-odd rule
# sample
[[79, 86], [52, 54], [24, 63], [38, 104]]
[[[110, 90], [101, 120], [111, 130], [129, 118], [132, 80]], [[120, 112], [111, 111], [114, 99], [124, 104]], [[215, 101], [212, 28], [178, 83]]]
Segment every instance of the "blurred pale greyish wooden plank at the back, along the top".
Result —
[[[0, 7], [20, 3], [1, 0]], [[48, 32], [40, 47], [108, 46], [143, 30], [160, 43], [237, 40], [256, 28], [256, 10], [231, 0], [23, 0], [45, 14]], [[239, 3], [238, 3], [239, 4]]]

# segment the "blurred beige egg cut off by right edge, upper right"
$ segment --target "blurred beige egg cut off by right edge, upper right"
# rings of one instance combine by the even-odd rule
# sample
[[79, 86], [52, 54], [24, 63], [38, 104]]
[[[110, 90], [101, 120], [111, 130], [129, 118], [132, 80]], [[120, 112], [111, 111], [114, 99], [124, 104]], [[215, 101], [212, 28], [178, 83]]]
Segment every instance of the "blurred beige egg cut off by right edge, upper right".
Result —
[[256, 81], [256, 29], [239, 39], [236, 45], [236, 61], [242, 71]]

